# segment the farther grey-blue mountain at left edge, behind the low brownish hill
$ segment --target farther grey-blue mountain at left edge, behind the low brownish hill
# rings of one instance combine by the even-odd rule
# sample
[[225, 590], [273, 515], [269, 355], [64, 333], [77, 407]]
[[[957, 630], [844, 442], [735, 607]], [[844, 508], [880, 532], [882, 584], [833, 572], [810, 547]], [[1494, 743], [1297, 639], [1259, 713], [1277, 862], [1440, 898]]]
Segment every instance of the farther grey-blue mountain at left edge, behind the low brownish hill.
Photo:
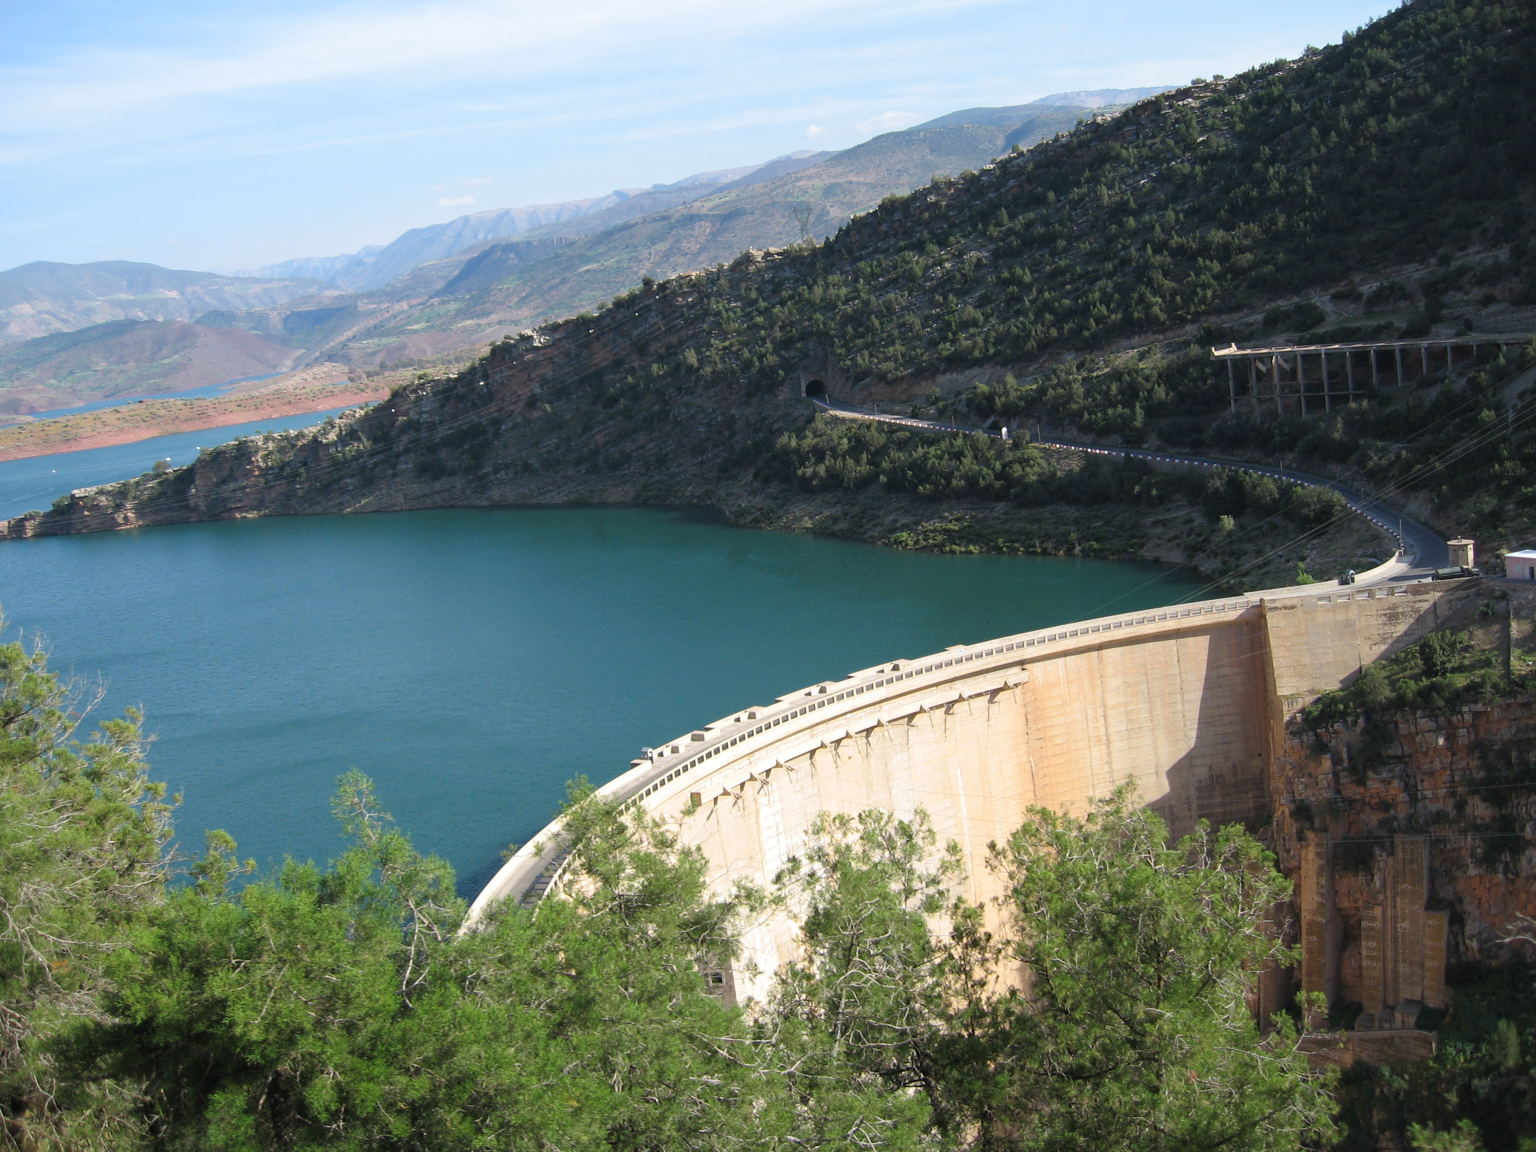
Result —
[[40, 260], [0, 272], [0, 344], [112, 319], [192, 319], [209, 309], [278, 307], [326, 287], [295, 276], [223, 276], [127, 260]]

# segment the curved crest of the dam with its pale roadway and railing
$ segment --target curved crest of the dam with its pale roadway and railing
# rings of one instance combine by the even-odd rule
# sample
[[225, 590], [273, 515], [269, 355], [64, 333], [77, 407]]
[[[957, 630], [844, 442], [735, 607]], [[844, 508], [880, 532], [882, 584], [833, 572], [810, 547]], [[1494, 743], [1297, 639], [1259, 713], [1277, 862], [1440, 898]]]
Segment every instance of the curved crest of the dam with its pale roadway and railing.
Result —
[[[1103, 644], [1109, 637], [1146, 637], [1169, 631], [1169, 625], [1181, 627], [1189, 621], [1238, 621], [1252, 619], [1266, 605], [1295, 601], [1316, 604], [1339, 604], [1356, 599], [1378, 599], [1410, 594], [1409, 585], [1384, 585], [1396, 562], [1389, 561], [1379, 568], [1364, 573], [1355, 585], [1301, 585], [1298, 588], [1270, 590], [1247, 596], [1226, 596], [1195, 604], [1169, 605], [1166, 608], [1114, 613], [1087, 621], [1061, 624], [1015, 633], [975, 645], [955, 645], [942, 653], [920, 659], [897, 659], [876, 668], [849, 673], [842, 680], [823, 680], [808, 688], [780, 696], [773, 705], [745, 708], [734, 716], [722, 717], [702, 730], [691, 731], [665, 742], [650, 757], [630, 762], [630, 771], [596, 790], [598, 796], [616, 800], [625, 806], [644, 805], [664, 793], [671, 797], [682, 791], [684, 782], [702, 770], [725, 766], [731, 759], [753, 759], [754, 771], [765, 774], [782, 768], [788, 760], [808, 751], [829, 746], [837, 740], [866, 731], [886, 720], [900, 719], [915, 711], [945, 708], [965, 699], [1017, 688], [1028, 679], [1028, 659], [1038, 654], [1066, 653], [1080, 647]], [[1370, 585], [1370, 579], [1378, 584]], [[966, 684], [949, 687], [955, 680], [974, 680], [978, 674], [997, 674], [992, 684]], [[912, 697], [928, 691], [912, 703]], [[958, 694], [955, 694], [958, 693]], [[839, 716], [863, 711], [871, 703], [888, 703], [906, 697], [905, 711], [891, 716], [877, 714], [859, 720], [859, 727], [842, 733], [825, 731], [823, 725]], [[912, 707], [906, 708], [906, 703]], [[773, 754], [770, 762], [765, 753]], [[677, 785], [677, 786], [673, 786]], [[705, 797], [697, 797], [703, 802]], [[719, 797], [708, 797], [719, 799]], [[562, 840], [562, 819], [547, 825], [538, 837], [522, 845], [475, 899], [465, 917], [465, 928], [485, 914], [485, 909], [505, 899], [522, 905], [536, 903], [554, 888], [567, 862], [567, 845]]]

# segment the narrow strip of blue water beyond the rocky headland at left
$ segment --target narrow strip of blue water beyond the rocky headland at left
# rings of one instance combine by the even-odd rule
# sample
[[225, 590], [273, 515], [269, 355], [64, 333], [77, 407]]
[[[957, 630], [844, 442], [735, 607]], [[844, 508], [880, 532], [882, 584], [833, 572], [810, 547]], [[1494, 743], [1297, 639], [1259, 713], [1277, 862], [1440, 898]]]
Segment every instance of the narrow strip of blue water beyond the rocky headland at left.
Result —
[[180, 468], [197, 459], [198, 449], [227, 444], [255, 432], [307, 429], [346, 410], [343, 407], [329, 412], [303, 412], [298, 416], [253, 419], [246, 424], [226, 424], [221, 429], [174, 432], [169, 436], [152, 436], [106, 449], [83, 449], [81, 452], [57, 452], [51, 456], [0, 461], [0, 519], [20, 516], [34, 508], [41, 511], [54, 502], [55, 496], [63, 496], [72, 488], [89, 488], [95, 484], [111, 484], [138, 476], [149, 472], [157, 459], [169, 459], [172, 467]]

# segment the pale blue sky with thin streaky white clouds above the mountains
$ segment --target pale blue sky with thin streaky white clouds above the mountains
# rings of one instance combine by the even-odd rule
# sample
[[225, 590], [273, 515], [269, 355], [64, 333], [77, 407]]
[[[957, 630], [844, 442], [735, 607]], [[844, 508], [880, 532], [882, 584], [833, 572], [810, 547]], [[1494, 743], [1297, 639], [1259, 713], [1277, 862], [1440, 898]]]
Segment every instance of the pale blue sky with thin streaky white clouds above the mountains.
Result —
[[0, 267], [223, 267], [962, 108], [1183, 83], [1382, 0], [0, 5]]

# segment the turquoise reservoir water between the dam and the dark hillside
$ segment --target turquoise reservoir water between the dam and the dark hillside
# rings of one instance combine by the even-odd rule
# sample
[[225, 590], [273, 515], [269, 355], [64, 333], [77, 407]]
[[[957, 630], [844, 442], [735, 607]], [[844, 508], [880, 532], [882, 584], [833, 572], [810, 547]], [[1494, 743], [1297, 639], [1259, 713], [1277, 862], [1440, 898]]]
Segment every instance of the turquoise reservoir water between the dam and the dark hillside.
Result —
[[178, 831], [338, 849], [338, 774], [375, 777], [475, 891], [565, 780], [895, 657], [1170, 604], [1154, 565], [932, 556], [676, 508], [187, 524], [0, 544], [0, 602], [54, 665], [141, 703]]

